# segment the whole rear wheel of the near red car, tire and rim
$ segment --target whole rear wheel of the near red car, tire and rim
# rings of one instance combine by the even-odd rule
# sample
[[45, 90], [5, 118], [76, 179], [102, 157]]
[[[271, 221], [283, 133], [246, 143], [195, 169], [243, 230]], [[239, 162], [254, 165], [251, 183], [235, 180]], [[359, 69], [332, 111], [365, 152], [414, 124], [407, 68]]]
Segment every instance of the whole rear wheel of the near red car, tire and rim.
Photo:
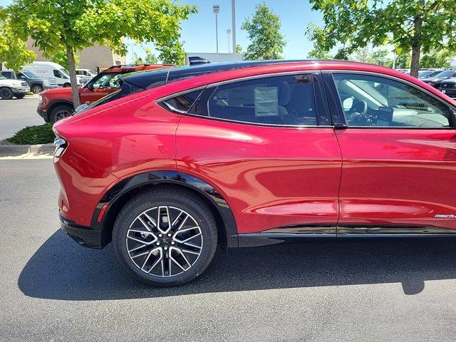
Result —
[[[171, 227], [166, 222], [172, 222]], [[118, 214], [113, 244], [120, 264], [135, 279], [176, 286], [209, 266], [217, 249], [217, 226], [210, 209], [192, 192], [147, 190], [132, 197]]]

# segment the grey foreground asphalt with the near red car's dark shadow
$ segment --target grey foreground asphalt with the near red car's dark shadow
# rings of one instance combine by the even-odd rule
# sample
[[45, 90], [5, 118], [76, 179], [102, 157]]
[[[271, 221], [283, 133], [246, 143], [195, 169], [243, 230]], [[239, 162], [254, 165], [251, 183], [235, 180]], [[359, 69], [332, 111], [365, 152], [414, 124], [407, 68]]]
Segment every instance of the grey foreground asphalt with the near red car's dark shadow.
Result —
[[58, 230], [52, 160], [0, 161], [0, 341], [454, 341], [456, 240], [217, 252], [138, 284]]

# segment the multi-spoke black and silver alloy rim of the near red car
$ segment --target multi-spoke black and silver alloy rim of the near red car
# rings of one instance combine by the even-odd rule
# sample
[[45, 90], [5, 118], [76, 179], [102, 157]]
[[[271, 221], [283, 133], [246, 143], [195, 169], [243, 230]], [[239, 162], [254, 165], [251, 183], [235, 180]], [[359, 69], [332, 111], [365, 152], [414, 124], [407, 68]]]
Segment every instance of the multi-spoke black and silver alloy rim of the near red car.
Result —
[[125, 238], [128, 256], [145, 274], [169, 277], [188, 271], [202, 251], [199, 224], [185, 210], [147, 209], [136, 217]]

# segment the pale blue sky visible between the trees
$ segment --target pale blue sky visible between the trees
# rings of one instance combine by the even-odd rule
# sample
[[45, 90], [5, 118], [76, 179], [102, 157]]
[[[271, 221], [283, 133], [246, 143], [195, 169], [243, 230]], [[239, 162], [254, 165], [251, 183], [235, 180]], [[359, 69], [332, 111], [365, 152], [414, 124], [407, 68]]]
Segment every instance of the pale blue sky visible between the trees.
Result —
[[[249, 40], [247, 32], [241, 30], [244, 19], [252, 16], [255, 6], [264, 2], [280, 16], [281, 33], [285, 36], [286, 46], [284, 58], [305, 58], [312, 48], [312, 43], [304, 36], [307, 24], [321, 23], [321, 14], [311, 11], [307, 0], [237, 0], [237, 42], [242, 48], [247, 48]], [[0, 6], [10, 4], [9, 0], [0, 0]], [[219, 13], [219, 52], [228, 52], [227, 29], [231, 28], [231, 0], [182, 0], [182, 4], [196, 4], [199, 13], [194, 14], [187, 21], [182, 22], [182, 41], [188, 52], [215, 52], [215, 16], [212, 5], [220, 6]], [[131, 58], [132, 46], [129, 44], [128, 61]], [[142, 56], [142, 48], [134, 46], [133, 50]]]

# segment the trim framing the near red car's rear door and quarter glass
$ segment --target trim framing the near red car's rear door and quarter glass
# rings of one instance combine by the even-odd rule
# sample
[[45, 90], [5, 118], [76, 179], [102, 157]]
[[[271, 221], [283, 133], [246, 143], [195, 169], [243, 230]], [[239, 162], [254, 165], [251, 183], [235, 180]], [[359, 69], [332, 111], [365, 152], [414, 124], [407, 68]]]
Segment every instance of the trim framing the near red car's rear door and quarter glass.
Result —
[[[294, 75], [314, 75], [314, 74], [317, 74], [317, 75], [321, 74], [321, 70], [318, 69], [318, 70], [284, 71], [284, 72], [279, 72], [279, 73], [264, 73], [264, 74], [261, 74], [261, 75], [246, 76], [246, 77], [242, 77], [242, 78], [231, 78], [229, 80], [224, 80], [224, 81], [215, 82], [215, 83], [209, 83], [209, 84], [207, 84], [205, 86], [199, 86], [197, 88], [186, 89], [186, 90], [182, 90], [182, 91], [177, 92], [177, 93], [166, 95], [166, 96], [164, 96], [162, 98], [158, 98], [157, 100], [155, 100], [155, 103], [160, 105], [162, 108], [165, 108], [167, 110], [172, 111], [172, 113], [176, 113], [176, 114], [180, 114], [180, 115], [187, 115], [187, 116], [194, 116], [194, 117], [197, 117], [197, 118], [204, 118], [204, 119], [207, 119], [207, 120], [216, 120], [216, 121], [222, 121], [222, 122], [228, 122], [228, 123], [237, 123], [239, 125], [254, 125], [254, 126], [264, 126], [264, 127], [274, 127], [274, 128], [296, 128], [296, 129], [303, 129], [303, 128], [333, 128], [333, 125], [318, 125], [318, 124], [317, 125], [276, 125], [276, 124], [272, 124], [272, 123], [250, 123], [250, 122], [246, 122], [246, 121], [230, 120], [230, 119], [226, 119], [226, 118], [214, 118], [214, 117], [211, 117], [209, 115], [198, 115], [198, 114], [194, 114], [194, 113], [188, 113], [193, 108], [193, 105], [192, 105], [192, 107], [190, 107], [189, 110], [187, 110], [187, 112], [184, 112], [182, 110], [177, 110], [176, 108], [172, 108], [171, 105], [169, 105], [168, 103], [165, 103], [166, 100], [170, 100], [171, 98], [175, 98], [175, 97], [180, 96], [180, 95], [185, 95], [186, 93], [192, 93], [193, 91], [197, 91], [199, 89], [202, 89], [203, 91], [199, 94], [198, 98], [195, 100], [195, 103], [197, 102], [197, 100], [199, 100], [199, 97], [201, 97], [202, 94], [205, 91], [211, 91], [212, 93], [214, 93], [214, 91], [217, 90], [218, 86], [224, 86], [224, 85], [230, 84], [230, 83], [237, 83], [237, 82], [242, 82], [242, 81], [250, 81], [250, 80], [255, 80], [255, 79], [259, 79], [259, 78], [270, 78], [270, 77], [280, 77], [280, 76], [294, 76]], [[314, 82], [312, 82], [312, 87], [314, 88], [314, 98], [315, 98], [316, 97], [316, 93], [315, 93], [316, 89], [315, 89], [315, 86], [314, 86]], [[318, 117], [320, 115], [318, 113], [318, 110], [320, 110], [318, 105], [316, 105], [315, 110], [316, 110], [316, 116], [317, 116], [317, 122], [318, 122]], [[207, 113], [209, 113], [209, 102], [207, 103]]]

